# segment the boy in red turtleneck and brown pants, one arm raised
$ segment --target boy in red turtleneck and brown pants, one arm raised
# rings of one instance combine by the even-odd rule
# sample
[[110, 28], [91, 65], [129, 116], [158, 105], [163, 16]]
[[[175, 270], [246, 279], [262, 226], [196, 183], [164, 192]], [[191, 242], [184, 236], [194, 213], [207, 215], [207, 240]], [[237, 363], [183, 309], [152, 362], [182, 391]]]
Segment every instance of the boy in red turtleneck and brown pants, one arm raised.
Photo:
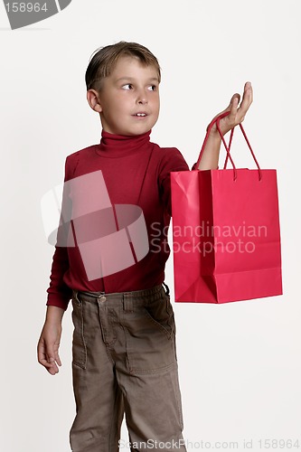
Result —
[[[189, 167], [177, 149], [160, 148], [149, 141], [159, 115], [160, 80], [155, 56], [135, 42], [101, 48], [86, 71], [87, 99], [99, 113], [102, 137], [99, 145], [67, 157], [65, 183], [74, 183], [71, 201], [76, 205], [74, 181], [101, 171], [105, 192], [98, 196], [95, 186], [83, 198], [85, 203], [91, 197], [102, 200], [108, 194], [108, 206], [92, 217], [86, 215], [84, 228], [90, 232], [91, 224], [99, 221], [99, 237], [108, 238], [112, 230], [104, 229], [110, 215], [114, 213], [118, 222], [118, 205], [131, 204], [143, 212], [148, 243], [139, 257], [134, 239], [129, 240], [135, 261], [107, 273], [104, 269], [109, 257], [100, 258], [100, 247], [96, 256], [99, 252], [102, 267], [99, 265], [98, 276], [90, 278], [88, 268], [93, 269], [97, 261], [97, 240], [88, 251], [79, 241], [74, 247], [57, 246], [54, 252], [38, 361], [52, 375], [59, 372], [61, 319], [72, 298], [72, 375], [77, 411], [70, 432], [73, 452], [118, 451], [124, 412], [131, 450], [186, 450], [174, 312], [164, 282], [170, 250], [163, 231], [172, 215], [170, 172]], [[246, 83], [240, 108], [239, 94], [226, 108], [230, 115], [221, 120], [223, 134], [243, 120], [251, 101], [252, 89]], [[194, 164], [193, 169], [216, 168], [220, 146], [221, 138], [214, 128], [199, 168]], [[160, 225], [162, 231], [159, 247], [152, 240], [154, 225], [156, 230]], [[76, 240], [80, 234], [75, 221], [72, 228]], [[94, 235], [94, 239], [99, 237]], [[110, 263], [115, 268], [120, 268], [124, 259], [119, 246], [114, 242], [109, 248], [113, 256]]]

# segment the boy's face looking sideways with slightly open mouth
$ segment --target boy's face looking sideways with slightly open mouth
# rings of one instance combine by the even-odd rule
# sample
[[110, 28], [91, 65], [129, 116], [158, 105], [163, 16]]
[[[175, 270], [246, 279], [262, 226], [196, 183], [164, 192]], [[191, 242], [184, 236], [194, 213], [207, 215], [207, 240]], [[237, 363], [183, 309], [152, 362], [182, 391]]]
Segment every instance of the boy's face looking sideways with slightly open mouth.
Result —
[[101, 124], [118, 135], [140, 135], [155, 126], [159, 116], [159, 80], [153, 66], [135, 57], [121, 57], [99, 91]]

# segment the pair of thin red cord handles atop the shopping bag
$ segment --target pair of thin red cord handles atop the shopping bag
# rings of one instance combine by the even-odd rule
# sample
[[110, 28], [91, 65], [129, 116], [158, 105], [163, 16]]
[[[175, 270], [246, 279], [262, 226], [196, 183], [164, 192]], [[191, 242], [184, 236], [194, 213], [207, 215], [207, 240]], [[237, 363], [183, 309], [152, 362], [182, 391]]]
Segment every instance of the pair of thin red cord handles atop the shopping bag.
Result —
[[[221, 119], [222, 119], [222, 118], [225, 118], [225, 117], [228, 116], [228, 115], [230, 115], [230, 111], [225, 111], [224, 113], [221, 113], [221, 115], [218, 116], [217, 118], [212, 119], [212, 122], [211, 122], [210, 125], [207, 127], [206, 137], [205, 137], [205, 139], [204, 139], [204, 141], [203, 141], [202, 149], [201, 149], [201, 152], [200, 152], [200, 155], [199, 155], [199, 158], [198, 158], [198, 161], [197, 161], [196, 166], [198, 167], [199, 164], [200, 164], [200, 162], [201, 162], [202, 154], [203, 154], [203, 151], [204, 151], [205, 146], [206, 146], [206, 144], [207, 144], [207, 141], [208, 141], [210, 132], [211, 132], [211, 130], [212, 130], [213, 125], [216, 123], [216, 127], [217, 127], [218, 132], [219, 132], [219, 134], [220, 134], [220, 136], [221, 136], [221, 141], [222, 141], [223, 146], [225, 147], [226, 152], [227, 152], [227, 156], [226, 156], [226, 160], [225, 160], [225, 164], [224, 164], [224, 168], [223, 168], [223, 169], [226, 169], [226, 165], [227, 165], [228, 158], [229, 158], [229, 159], [230, 159], [230, 163], [231, 163], [231, 165], [232, 165], [232, 167], [233, 167], [233, 174], [234, 174], [233, 180], [235, 181], [235, 180], [237, 179], [237, 169], [236, 169], [236, 166], [234, 165], [234, 162], [233, 162], [232, 157], [231, 157], [231, 155], [230, 155], [230, 146], [231, 146], [231, 143], [232, 143], [232, 138], [233, 138], [234, 128], [235, 128], [235, 127], [233, 127], [233, 128], [231, 129], [231, 132], [230, 132], [230, 140], [229, 140], [229, 145], [228, 145], [228, 146], [227, 146], [227, 144], [226, 144], [225, 138], [223, 137], [223, 135], [222, 135], [222, 133], [221, 133], [221, 127], [220, 127], [220, 121], [221, 121]], [[255, 154], [254, 154], [254, 152], [253, 152], [253, 150], [252, 150], [252, 148], [251, 148], [251, 146], [250, 146], [250, 144], [249, 144], [249, 139], [248, 139], [248, 137], [247, 137], [247, 135], [246, 135], [246, 132], [244, 131], [244, 128], [242, 127], [241, 124], [240, 124], [240, 130], [241, 130], [241, 132], [242, 132], [243, 137], [245, 138], [245, 140], [246, 140], [246, 142], [247, 142], [247, 145], [249, 146], [249, 150], [250, 150], [250, 153], [251, 153], [251, 155], [252, 155], [252, 157], [253, 157], [253, 159], [254, 159], [254, 161], [255, 161], [255, 164], [256, 164], [257, 167], [259, 168], [259, 181], [260, 181], [261, 178], [262, 178], [261, 169], [260, 169], [259, 163], [258, 163], [258, 161], [257, 161], [257, 158], [256, 158], [256, 156], [255, 156]]]

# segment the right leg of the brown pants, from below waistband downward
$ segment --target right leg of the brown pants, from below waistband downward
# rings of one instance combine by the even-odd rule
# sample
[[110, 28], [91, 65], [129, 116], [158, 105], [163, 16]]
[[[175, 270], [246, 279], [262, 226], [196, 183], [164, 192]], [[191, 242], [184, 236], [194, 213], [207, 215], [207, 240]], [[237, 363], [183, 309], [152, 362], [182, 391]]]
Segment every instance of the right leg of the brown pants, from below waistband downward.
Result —
[[160, 297], [145, 305], [127, 300], [122, 325], [127, 367], [117, 361], [117, 377], [124, 393], [131, 450], [183, 452], [174, 312], [169, 297], [162, 290]]

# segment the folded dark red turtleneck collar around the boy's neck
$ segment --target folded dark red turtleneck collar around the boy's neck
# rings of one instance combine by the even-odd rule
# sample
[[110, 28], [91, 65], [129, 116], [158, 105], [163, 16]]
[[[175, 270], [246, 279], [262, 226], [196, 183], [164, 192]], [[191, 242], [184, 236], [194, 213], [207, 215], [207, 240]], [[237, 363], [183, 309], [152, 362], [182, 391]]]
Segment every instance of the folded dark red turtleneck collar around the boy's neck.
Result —
[[99, 146], [96, 148], [97, 154], [104, 157], [122, 157], [143, 151], [150, 143], [151, 130], [141, 135], [115, 135], [102, 130]]

